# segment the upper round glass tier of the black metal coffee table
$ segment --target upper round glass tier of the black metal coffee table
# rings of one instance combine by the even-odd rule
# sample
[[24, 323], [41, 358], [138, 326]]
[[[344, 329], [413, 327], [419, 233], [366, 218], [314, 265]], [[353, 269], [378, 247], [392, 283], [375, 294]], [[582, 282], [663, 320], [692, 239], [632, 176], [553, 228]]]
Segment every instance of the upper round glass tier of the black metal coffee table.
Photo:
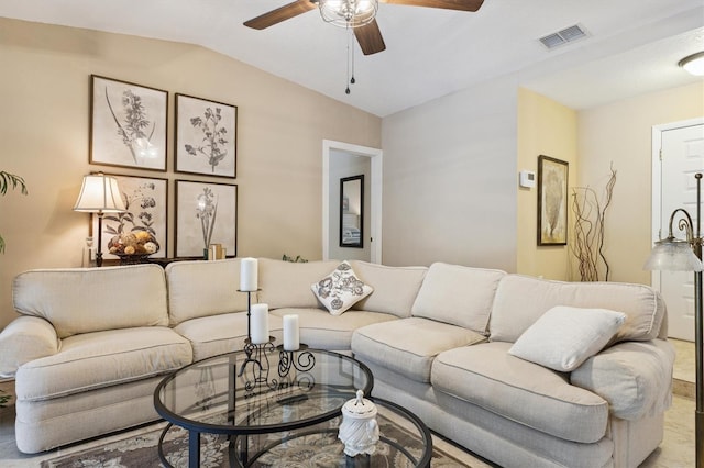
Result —
[[200, 466], [201, 434], [229, 439], [232, 466], [250, 464], [246, 436], [309, 427], [340, 415], [356, 390], [370, 394], [374, 379], [362, 363], [338, 353], [284, 352], [273, 343], [250, 346], [188, 365], [154, 392], [156, 412], [188, 431], [188, 466]]

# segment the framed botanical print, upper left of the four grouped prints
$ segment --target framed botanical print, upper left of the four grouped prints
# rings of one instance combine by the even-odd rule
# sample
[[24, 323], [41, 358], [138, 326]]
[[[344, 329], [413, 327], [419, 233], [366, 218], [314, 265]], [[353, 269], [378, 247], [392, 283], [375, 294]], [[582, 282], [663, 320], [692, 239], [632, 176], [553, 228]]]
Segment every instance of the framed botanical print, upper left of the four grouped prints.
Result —
[[90, 78], [89, 161], [166, 171], [168, 92]]

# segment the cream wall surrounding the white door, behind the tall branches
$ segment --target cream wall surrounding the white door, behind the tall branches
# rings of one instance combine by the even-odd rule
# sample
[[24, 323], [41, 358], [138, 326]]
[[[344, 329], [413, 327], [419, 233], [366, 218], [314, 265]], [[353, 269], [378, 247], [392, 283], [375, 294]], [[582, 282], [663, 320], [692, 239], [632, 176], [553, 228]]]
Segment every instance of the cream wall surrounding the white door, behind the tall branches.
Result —
[[650, 283], [653, 125], [704, 116], [704, 83], [614, 102], [578, 114], [579, 183], [603, 187], [618, 171], [606, 220], [610, 280]]

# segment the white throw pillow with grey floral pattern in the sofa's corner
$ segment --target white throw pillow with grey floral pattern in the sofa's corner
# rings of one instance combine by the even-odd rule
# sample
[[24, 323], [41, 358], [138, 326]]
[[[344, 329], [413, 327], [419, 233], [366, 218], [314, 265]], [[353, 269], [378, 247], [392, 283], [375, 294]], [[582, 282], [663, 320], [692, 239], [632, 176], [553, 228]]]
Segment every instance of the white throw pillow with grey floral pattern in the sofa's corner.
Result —
[[374, 291], [354, 275], [348, 261], [341, 263], [330, 275], [311, 285], [310, 289], [332, 315], [342, 314]]

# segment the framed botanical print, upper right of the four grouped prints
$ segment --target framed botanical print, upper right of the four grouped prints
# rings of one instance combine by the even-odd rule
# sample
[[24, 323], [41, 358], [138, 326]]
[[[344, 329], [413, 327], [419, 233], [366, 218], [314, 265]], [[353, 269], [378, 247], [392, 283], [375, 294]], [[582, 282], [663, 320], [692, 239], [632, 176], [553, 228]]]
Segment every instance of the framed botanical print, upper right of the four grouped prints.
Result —
[[177, 172], [237, 177], [238, 108], [176, 94]]

